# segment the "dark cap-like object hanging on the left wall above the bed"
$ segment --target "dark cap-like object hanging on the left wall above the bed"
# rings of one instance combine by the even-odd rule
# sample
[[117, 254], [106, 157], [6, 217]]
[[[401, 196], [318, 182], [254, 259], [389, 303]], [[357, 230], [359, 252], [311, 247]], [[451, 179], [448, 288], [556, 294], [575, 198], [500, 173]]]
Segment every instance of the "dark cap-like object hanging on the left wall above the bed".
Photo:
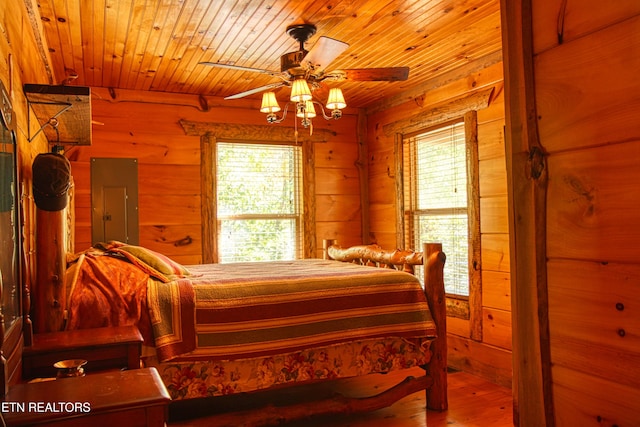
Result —
[[62, 154], [42, 153], [33, 161], [33, 197], [36, 206], [45, 211], [67, 207], [71, 186], [71, 165]]

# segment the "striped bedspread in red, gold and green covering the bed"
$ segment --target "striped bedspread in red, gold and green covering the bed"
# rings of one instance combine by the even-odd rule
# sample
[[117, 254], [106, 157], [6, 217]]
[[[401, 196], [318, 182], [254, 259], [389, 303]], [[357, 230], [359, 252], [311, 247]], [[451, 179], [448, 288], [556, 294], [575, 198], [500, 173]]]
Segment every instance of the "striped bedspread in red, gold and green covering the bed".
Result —
[[317, 259], [187, 268], [188, 278], [147, 290], [163, 362], [435, 337], [423, 290], [408, 273]]

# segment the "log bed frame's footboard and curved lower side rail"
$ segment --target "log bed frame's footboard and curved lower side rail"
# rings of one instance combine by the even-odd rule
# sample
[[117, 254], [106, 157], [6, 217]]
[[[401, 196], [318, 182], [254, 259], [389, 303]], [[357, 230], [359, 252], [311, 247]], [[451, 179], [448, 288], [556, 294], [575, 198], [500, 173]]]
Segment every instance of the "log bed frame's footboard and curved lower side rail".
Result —
[[[282, 421], [303, 419], [310, 415], [366, 412], [390, 406], [397, 400], [420, 390], [426, 391], [427, 407], [429, 409], [437, 411], [447, 409], [447, 338], [443, 282], [443, 268], [446, 257], [442, 252], [442, 246], [437, 243], [428, 243], [423, 246], [422, 252], [384, 251], [377, 245], [362, 245], [343, 249], [337, 246], [335, 241], [325, 240], [323, 252], [326, 259], [394, 268], [412, 274], [415, 266], [424, 265], [423, 283], [425, 285], [425, 294], [436, 324], [438, 336], [430, 345], [432, 356], [429, 364], [423, 367], [425, 375], [407, 377], [392, 388], [371, 397], [346, 398], [332, 396], [327, 400], [288, 406], [286, 410], [282, 407], [267, 406], [260, 408], [259, 411], [220, 414], [216, 416], [216, 425], [278, 425]], [[42, 292], [45, 295], [34, 294], [31, 298], [34, 300], [47, 298], [46, 289], [42, 290]], [[28, 313], [30, 304], [28, 292], [25, 292], [25, 299], [25, 313]], [[25, 322], [30, 323], [28, 315], [24, 317]], [[25, 335], [29, 335], [28, 330], [25, 332], [27, 332]], [[30, 341], [30, 337], [25, 336], [25, 345], [28, 345]], [[15, 356], [15, 353], [13, 356]], [[291, 387], [296, 386], [292, 385]], [[268, 393], [269, 390], [266, 390], [266, 392]], [[262, 391], [255, 393], [264, 394]], [[212, 399], [220, 399], [220, 397], [213, 397]], [[181, 413], [185, 408], [187, 408], [187, 411], [192, 412], [192, 408], [188, 406], [189, 404], [187, 403], [187, 406], [184, 406], [184, 402], [172, 402], [172, 413]]]

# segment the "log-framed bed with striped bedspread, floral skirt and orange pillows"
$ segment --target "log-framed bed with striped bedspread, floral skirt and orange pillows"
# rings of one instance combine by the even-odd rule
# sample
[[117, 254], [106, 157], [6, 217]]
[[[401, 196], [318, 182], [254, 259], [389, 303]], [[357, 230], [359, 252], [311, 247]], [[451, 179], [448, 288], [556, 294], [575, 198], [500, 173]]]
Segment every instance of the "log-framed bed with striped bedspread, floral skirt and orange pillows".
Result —
[[[337, 411], [387, 406], [421, 389], [429, 408], [446, 409], [440, 245], [387, 252], [326, 241], [324, 252], [182, 266], [140, 246], [97, 245], [69, 257], [64, 328], [137, 325], [142, 363], [158, 369], [174, 407], [419, 366], [423, 377]], [[426, 291], [415, 266], [424, 267]]]

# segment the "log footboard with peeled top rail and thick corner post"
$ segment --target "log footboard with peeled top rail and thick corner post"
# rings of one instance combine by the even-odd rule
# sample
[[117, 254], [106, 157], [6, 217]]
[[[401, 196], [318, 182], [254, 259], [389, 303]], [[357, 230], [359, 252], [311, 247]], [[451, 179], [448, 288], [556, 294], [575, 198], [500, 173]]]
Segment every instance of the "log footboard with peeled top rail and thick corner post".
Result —
[[325, 259], [354, 262], [383, 268], [394, 268], [414, 274], [415, 266], [424, 266], [423, 283], [429, 310], [436, 324], [438, 338], [431, 343], [431, 362], [426, 367], [431, 378], [427, 388], [427, 407], [446, 410], [447, 401], [447, 323], [444, 294], [444, 264], [442, 244], [425, 243], [422, 252], [396, 249], [385, 251], [378, 245], [360, 245], [343, 249], [334, 240], [323, 242]]

